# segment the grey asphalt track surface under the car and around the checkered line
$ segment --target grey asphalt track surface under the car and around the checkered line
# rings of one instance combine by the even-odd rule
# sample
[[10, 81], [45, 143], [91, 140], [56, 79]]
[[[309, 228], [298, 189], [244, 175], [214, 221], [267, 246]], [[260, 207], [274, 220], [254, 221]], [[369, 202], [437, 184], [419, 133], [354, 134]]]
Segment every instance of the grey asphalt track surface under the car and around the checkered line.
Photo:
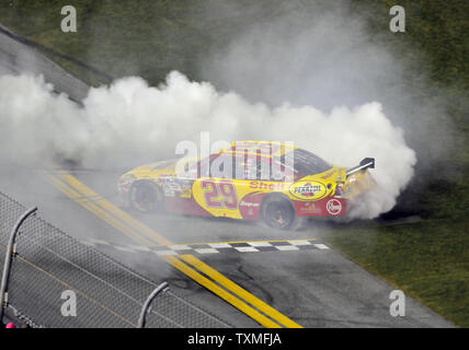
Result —
[[[58, 91], [66, 92], [73, 100], [80, 101], [85, 95], [82, 82], [37, 50], [0, 34], [0, 74], [18, 74], [22, 71], [44, 74]], [[272, 241], [291, 241], [287, 244], [289, 246], [298, 242], [295, 240], [322, 244], [321, 237], [329, 230], [339, 229], [308, 224], [301, 231], [273, 231], [262, 225], [228, 219], [125, 212], [134, 223], [150, 231], [148, 233], [146, 229], [140, 230], [148, 233], [142, 243], [135, 232], [118, 230], [112, 221], [103, 219], [99, 210], [83, 205], [91, 202], [93, 208], [108, 205], [119, 210], [116, 191], [119, 175], [118, 171], [57, 172], [1, 166], [0, 190], [25, 206], [37, 206], [41, 217], [88, 244], [104, 242], [98, 246], [99, 249], [156, 282], [168, 281], [172, 290], [234, 327], [268, 327], [272, 324], [260, 322], [227, 302], [220, 298], [222, 291], [245, 302], [250, 310], [259, 311], [277, 326], [454, 326], [410, 296], [405, 298], [405, 316], [392, 317], [389, 312], [392, 302], [389, 295], [396, 288], [347, 260], [331, 246], [319, 245], [321, 248], [313, 249], [276, 248], [268, 252], [231, 249], [234, 252], [226, 253], [224, 249], [216, 249], [218, 253], [202, 250], [205, 253], [181, 253], [179, 256], [139, 254], [123, 249], [128, 246], [159, 246], [164, 242], [168, 244], [168, 241], [171, 245], [225, 243], [232, 246], [237, 246], [236, 242], [241, 242], [239, 245], [254, 247], [256, 244], [259, 246], [259, 242], [275, 244]], [[92, 190], [94, 195], [90, 196], [87, 190]], [[78, 196], [73, 197], [73, 191]], [[124, 214], [117, 212], [116, 215]], [[206, 285], [192, 278], [191, 272], [181, 271], [175, 260], [171, 259], [183, 261], [203, 272], [221, 292], [209, 291]]]

